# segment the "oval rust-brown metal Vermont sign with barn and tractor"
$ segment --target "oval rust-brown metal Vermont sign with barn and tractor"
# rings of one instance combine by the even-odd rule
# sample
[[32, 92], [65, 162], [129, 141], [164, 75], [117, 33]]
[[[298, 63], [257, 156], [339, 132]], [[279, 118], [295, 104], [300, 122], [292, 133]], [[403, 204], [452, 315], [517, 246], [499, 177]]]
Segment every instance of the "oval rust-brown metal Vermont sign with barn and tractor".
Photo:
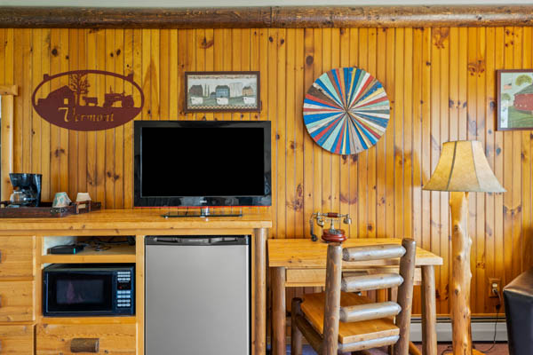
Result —
[[[109, 83], [120, 83], [122, 92], [114, 92], [115, 85]], [[57, 89], [52, 90], [51, 86]], [[139, 95], [133, 95], [135, 91]], [[45, 74], [31, 102], [37, 114], [56, 126], [68, 130], [107, 130], [130, 122], [139, 114], [144, 94], [133, 81], [132, 73], [124, 76], [103, 70], [75, 70]]]

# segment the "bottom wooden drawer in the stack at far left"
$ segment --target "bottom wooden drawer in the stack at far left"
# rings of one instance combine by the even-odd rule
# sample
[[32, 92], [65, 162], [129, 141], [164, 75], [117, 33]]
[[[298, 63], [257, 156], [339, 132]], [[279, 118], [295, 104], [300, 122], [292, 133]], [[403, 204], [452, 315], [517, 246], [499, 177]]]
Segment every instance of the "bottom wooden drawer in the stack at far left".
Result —
[[0, 354], [33, 355], [33, 326], [0, 326]]

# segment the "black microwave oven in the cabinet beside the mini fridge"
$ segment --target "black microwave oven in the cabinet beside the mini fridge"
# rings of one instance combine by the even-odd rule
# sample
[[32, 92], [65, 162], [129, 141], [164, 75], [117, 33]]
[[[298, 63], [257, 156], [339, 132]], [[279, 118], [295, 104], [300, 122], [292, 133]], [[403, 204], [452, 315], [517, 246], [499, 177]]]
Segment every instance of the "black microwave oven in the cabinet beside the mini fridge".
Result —
[[43, 270], [43, 314], [135, 314], [135, 264], [52, 264]]

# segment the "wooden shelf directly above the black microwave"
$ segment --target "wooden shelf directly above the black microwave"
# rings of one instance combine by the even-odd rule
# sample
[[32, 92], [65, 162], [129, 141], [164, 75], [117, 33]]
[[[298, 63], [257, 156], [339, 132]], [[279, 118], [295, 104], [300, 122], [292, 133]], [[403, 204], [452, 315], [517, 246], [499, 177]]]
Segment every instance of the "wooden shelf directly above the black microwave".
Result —
[[115, 245], [100, 251], [88, 247], [76, 254], [47, 254], [41, 256], [41, 263], [135, 263], [135, 246]]

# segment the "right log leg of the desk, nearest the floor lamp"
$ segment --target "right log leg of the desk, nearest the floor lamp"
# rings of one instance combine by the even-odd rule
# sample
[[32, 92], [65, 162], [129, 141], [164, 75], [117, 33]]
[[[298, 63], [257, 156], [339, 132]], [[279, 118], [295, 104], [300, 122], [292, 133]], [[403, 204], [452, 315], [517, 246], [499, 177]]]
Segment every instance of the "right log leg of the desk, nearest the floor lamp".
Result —
[[422, 266], [422, 353], [437, 355], [437, 305], [433, 265]]

